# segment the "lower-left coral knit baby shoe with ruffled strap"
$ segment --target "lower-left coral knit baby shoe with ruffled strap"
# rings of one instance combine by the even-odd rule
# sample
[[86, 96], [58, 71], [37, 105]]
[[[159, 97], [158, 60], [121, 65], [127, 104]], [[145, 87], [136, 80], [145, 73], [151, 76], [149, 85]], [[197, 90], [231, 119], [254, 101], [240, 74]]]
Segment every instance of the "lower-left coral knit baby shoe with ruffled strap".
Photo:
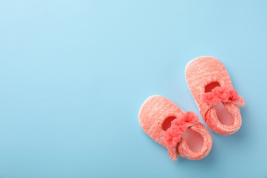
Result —
[[153, 95], [140, 107], [139, 124], [155, 142], [168, 149], [173, 161], [181, 155], [201, 160], [212, 149], [212, 136], [194, 112], [183, 112], [169, 99]]

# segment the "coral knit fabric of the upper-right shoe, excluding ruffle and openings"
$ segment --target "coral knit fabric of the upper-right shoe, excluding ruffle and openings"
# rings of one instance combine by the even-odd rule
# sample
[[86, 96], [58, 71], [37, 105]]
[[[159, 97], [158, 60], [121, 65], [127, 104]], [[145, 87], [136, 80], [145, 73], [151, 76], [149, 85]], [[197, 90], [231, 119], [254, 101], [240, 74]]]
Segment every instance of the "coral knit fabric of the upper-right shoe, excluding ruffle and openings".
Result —
[[188, 88], [209, 129], [223, 135], [229, 135], [238, 131], [242, 123], [238, 105], [244, 106], [244, 99], [241, 96], [238, 105], [234, 103], [223, 103], [225, 108], [233, 116], [233, 124], [231, 125], [220, 123], [215, 108], [208, 107], [205, 103], [201, 102], [201, 95], [205, 93], [205, 86], [207, 84], [218, 82], [224, 88], [233, 88], [225, 66], [214, 57], [203, 56], [188, 62], [185, 75]]

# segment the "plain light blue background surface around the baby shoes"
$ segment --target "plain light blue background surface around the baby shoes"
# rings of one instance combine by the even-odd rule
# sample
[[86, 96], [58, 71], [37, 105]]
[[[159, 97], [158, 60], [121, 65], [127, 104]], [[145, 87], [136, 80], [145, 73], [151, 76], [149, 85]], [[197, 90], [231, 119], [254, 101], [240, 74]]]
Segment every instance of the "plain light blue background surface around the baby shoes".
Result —
[[[267, 177], [266, 1], [0, 1], [0, 177]], [[200, 161], [138, 125], [161, 94], [199, 114], [186, 63], [212, 55], [246, 99]]]

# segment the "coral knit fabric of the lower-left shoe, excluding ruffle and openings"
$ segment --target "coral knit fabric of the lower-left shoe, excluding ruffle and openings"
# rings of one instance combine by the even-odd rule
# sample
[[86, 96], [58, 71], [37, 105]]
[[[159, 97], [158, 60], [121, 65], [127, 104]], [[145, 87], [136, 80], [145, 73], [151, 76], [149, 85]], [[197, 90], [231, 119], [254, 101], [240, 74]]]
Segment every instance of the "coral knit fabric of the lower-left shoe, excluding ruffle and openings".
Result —
[[170, 116], [182, 118], [184, 114], [185, 112], [169, 99], [154, 95], [144, 101], [140, 107], [138, 121], [147, 135], [168, 149], [168, 154], [172, 160], [176, 161], [178, 154], [190, 160], [200, 160], [207, 156], [212, 149], [212, 136], [198, 120], [194, 125], [188, 125], [188, 129], [198, 132], [203, 137], [201, 151], [191, 151], [183, 138], [181, 138], [181, 142], [179, 144], [177, 143], [178, 145], [175, 147], [169, 147], [166, 140], [164, 140], [164, 133], [166, 132], [162, 128], [164, 120]]

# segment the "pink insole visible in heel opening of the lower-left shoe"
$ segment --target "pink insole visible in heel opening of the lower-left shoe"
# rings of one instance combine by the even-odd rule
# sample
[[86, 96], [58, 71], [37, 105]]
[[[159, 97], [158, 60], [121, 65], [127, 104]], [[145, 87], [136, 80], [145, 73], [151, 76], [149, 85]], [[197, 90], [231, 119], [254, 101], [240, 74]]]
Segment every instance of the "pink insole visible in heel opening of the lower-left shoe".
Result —
[[191, 129], [186, 129], [186, 131], [181, 135], [181, 138], [186, 140], [188, 147], [193, 152], [201, 151], [203, 147], [203, 137], [200, 133], [193, 131]]

